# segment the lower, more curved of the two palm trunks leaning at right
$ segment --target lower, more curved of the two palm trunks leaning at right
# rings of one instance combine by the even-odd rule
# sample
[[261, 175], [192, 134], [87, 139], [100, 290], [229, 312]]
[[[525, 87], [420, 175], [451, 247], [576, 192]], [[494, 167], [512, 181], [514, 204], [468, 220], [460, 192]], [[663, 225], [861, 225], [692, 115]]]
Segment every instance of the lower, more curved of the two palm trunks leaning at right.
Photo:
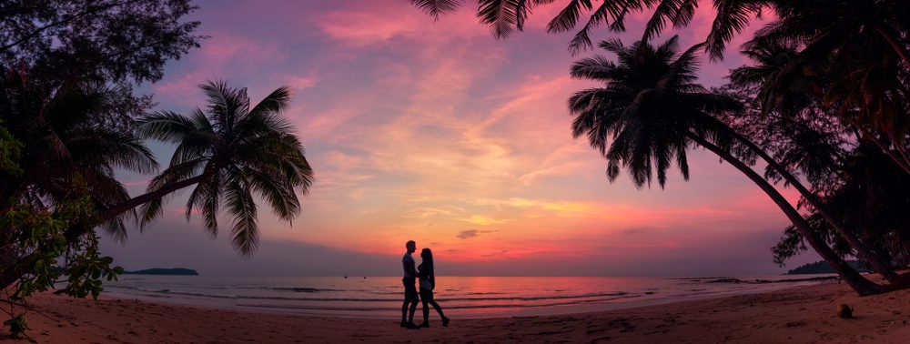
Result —
[[736, 167], [736, 169], [739, 169], [741, 172], [743, 172], [746, 177], [752, 179], [752, 181], [758, 185], [758, 187], [761, 187], [762, 190], [768, 194], [768, 197], [771, 197], [771, 199], [774, 201], [774, 204], [776, 204], [777, 207], [780, 207], [781, 210], [784, 211], [784, 215], [786, 215], [786, 217], [794, 223], [796, 230], [798, 230], [800, 234], [803, 235], [803, 238], [805, 238], [809, 245], [815, 249], [815, 252], [818, 252], [819, 256], [831, 264], [832, 268], [837, 271], [837, 274], [840, 275], [841, 278], [844, 278], [844, 282], [846, 282], [850, 288], [853, 288], [857, 294], [860, 296], [867, 296], [879, 294], [886, 290], [883, 286], [877, 285], [869, 279], [864, 278], [863, 275], [860, 275], [859, 272], [856, 272], [854, 268], [850, 268], [850, 266], [847, 265], [846, 261], [844, 261], [843, 258], [838, 257], [837, 254], [834, 253], [834, 250], [828, 247], [827, 243], [824, 242], [824, 239], [819, 238], [817, 235], [815, 235], [812, 228], [809, 226], [809, 223], [805, 220], [805, 218], [803, 218], [802, 215], [800, 215], [798, 211], [796, 211], [792, 205], [790, 205], [790, 202], [788, 202], [786, 198], [784, 198], [784, 196], [782, 196], [780, 192], [778, 192], [777, 189], [771, 185], [771, 183], [765, 180], [762, 176], [759, 176], [758, 173], [756, 173], [751, 167], [748, 167], [745, 163], [736, 157], [733, 157], [732, 154], [721, 149], [721, 147], [714, 146], [711, 142], [708, 142], [703, 137], [698, 137], [692, 133], [689, 133], [687, 136], [689, 138], [692, 138], [692, 140], [698, 145], [710, 150], [718, 157], [721, 157], [723, 160], [729, 162], [731, 165], [733, 165], [733, 167]]

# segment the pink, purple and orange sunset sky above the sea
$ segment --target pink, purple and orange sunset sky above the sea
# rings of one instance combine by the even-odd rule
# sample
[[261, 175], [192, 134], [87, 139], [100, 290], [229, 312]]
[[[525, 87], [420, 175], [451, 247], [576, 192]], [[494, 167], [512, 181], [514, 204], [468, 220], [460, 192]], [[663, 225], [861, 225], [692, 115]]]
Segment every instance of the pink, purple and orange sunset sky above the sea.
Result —
[[[470, 2], [469, 2], [470, 3]], [[434, 22], [406, 0], [202, 1], [202, 47], [142, 86], [156, 109], [204, 106], [197, 85], [225, 79], [253, 101], [290, 86], [285, 114], [316, 171], [301, 217], [262, 207], [258, 254], [243, 260], [228, 231], [211, 240], [183, 217], [184, 197], [125, 245], [103, 248], [126, 268], [187, 267], [211, 275], [395, 275], [408, 239], [433, 248], [440, 275], [685, 276], [785, 269], [770, 247], [787, 225], [757, 187], [692, 150], [692, 178], [666, 189], [611, 184], [605, 160], [571, 137], [570, 35], [547, 35], [560, 8], [535, 9], [525, 32], [497, 41], [473, 5]], [[683, 46], [703, 40], [703, 8]], [[642, 34], [632, 16], [623, 42]], [[616, 36], [600, 29], [596, 39]], [[664, 35], [659, 40], [664, 39]], [[733, 43], [738, 46], [742, 39]], [[735, 49], [703, 63], [723, 84]], [[172, 147], [153, 143], [162, 163]], [[125, 176], [134, 195], [148, 176]], [[786, 195], [794, 199], [794, 193]], [[227, 221], [223, 221], [227, 224]], [[793, 268], [814, 257], [794, 260]]]

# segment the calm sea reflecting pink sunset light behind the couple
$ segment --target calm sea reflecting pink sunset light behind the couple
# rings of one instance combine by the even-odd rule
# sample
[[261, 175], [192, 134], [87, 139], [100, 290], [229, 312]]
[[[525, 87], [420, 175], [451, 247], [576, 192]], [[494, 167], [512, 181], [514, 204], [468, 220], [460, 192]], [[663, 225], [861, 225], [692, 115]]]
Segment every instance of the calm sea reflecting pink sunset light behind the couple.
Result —
[[[435, 297], [447, 315], [459, 318], [527, 316], [763, 292], [819, 283], [780, 282], [819, 276], [824, 275], [740, 277], [739, 283], [723, 278], [438, 277]], [[400, 315], [403, 287], [401, 278], [393, 277], [124, 275], [106, 283], [105, 295], [219, 309], [394, 318]]]

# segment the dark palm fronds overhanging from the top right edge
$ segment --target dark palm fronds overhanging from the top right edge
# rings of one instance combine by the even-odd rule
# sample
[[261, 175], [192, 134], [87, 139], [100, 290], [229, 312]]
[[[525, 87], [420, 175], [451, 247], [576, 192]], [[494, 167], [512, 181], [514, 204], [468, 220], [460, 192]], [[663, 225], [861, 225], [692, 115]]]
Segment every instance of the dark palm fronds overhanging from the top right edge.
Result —
[[[420, 9], [438, 17], [454, 11], [459, 0], [411, 0]], [[478, 0], [480, 22], [490, 25], [497, 38], [521, 31], [531, 9], [551, 5], [553, 0]], [[703, 2], [701, 2], [703, 3]], [[587, 21], [569, 43], [572, 55], [592, 47], [593, 28], [608, 26], [613, 32], [625, 31], [626, 16], [652, 10], [645, 25], [643, 40], [659, 35], [672, 25], [685, 27], [693, 20], [698, 0], [571, 0], [554, 16], [547, 32], [561, 34], [575, 30], [584, 15]], [[755, 17], [772, 10], [778, 17], [759, 36], [786, 45], [806, 46], [804, 54], [814, 56], [815, 62], [831, 64], [829, 56], [865, 54], [859, 66], [838, 70], [844, 79], [834, 86], [829, 103], [844, 109], [856, 106], [858, 115], [845, 114], [844, 119], [855, 122], [864, 135], [875, 142], [899, 166], [910, 173], [910, 120], [904, 100], [910, 97], [905, 81], [896, 81], [910, 67], [910, 2], [904, 0], [714, 0], [716, 15], [705, 37], [705, 50], [713, 60], [723, 59], [725, 46], [745, 29]], [[884, 58], [883, 58], [884, 57]], [[822, 60], [819, 60], [822, 59]], [[898, 61], [903, 61], [900, 65]], [[856, 61], [841, 59], [834, 65], [855, 65]], [[882, 81], [888, 81], [883, 83]], [[894, 86], [902, 83], [899, 86]], [[902, 95], [895, 101], [890, 95]]]

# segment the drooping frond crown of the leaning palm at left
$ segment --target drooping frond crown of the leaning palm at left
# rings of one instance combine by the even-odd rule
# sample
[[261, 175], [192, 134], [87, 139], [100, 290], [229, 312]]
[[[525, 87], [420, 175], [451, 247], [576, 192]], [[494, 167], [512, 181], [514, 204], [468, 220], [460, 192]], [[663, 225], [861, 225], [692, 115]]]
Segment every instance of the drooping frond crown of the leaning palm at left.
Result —
[[[282, 86], [255, 106], [245, 88], [223, 81], [200, 86], [208, 97], [205, 109], [189, 116], [157, 112], [139, 120], [139, 132], [177, 145], [170, 165], [148, 185], [148, 194], [196, 184], [187, 199], [187, 220], [198, 210], [204, 226], [217, 235], [220, 210], [231, 218], [232, 244], [245, 257], [258, 245], [254, 194], [290, 222], [300, 212], [300, 194], [307, 194], [313, 170], [290, 123], [279, 116], [290, 93]], [[141, 209], [141, 223], [162, 213], [162, 197]]]

